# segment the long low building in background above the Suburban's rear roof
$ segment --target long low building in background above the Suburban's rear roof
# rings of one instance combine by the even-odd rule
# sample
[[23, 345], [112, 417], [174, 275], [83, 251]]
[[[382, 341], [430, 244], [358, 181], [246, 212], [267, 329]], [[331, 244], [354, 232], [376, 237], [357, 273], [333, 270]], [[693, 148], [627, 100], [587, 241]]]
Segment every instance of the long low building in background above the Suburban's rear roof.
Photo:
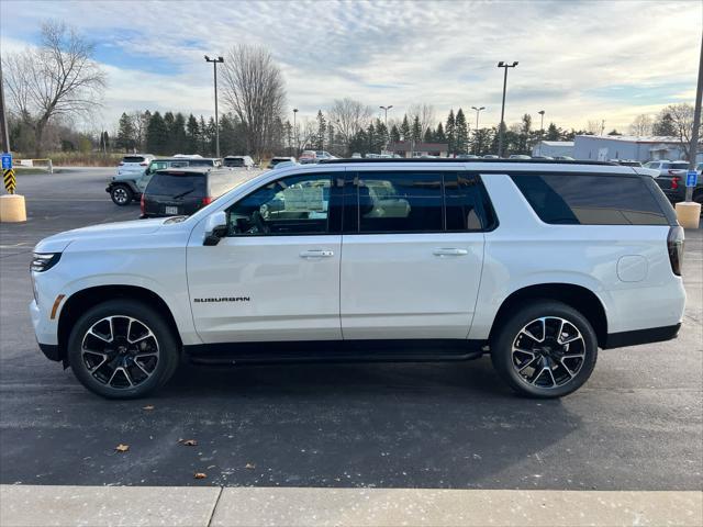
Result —
[[577, 135], [573, 157], [594, 161], [635, 159], [650, 161], [684, 159], [681, 142], [676, 137], [635, 137], [629, 135]]

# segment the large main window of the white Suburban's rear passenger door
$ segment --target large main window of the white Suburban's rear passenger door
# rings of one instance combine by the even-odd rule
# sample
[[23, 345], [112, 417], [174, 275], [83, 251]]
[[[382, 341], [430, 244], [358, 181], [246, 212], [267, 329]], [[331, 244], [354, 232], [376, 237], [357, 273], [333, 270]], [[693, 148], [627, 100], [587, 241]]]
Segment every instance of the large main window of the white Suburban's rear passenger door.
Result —
[[359, 173], [358, 203], [360, 233], [444, 229], [440, 172]]

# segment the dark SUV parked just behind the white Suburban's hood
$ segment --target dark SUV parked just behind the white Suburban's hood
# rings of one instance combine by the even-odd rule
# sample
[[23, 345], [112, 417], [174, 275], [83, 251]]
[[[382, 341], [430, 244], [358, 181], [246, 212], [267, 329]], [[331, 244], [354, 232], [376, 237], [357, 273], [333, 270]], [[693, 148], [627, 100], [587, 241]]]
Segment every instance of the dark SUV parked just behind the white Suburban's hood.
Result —
[[236, 186], [227, 169], [157, 170], [142, 194], [142, 217], [193, 214]]

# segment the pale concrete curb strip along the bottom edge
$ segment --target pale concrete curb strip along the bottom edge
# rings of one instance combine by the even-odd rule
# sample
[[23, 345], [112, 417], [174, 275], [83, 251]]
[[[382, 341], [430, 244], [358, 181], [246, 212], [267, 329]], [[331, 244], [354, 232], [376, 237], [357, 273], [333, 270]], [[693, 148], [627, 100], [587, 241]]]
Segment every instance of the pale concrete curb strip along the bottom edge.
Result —
[[703, 492], [0, 485], [0, 525], [700, 526]]

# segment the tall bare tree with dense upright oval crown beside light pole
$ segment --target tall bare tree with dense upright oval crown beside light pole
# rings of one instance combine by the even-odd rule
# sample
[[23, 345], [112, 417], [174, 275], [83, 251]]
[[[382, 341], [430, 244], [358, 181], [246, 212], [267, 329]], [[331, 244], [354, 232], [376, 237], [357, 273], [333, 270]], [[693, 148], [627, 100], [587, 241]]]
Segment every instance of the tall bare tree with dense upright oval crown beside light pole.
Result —
[[222, 65], [222, 92], [242, 121], [248, 152], [260, 158], [286, 105], [283, 76], [271, 54], [259, 46], [232, 47]]

